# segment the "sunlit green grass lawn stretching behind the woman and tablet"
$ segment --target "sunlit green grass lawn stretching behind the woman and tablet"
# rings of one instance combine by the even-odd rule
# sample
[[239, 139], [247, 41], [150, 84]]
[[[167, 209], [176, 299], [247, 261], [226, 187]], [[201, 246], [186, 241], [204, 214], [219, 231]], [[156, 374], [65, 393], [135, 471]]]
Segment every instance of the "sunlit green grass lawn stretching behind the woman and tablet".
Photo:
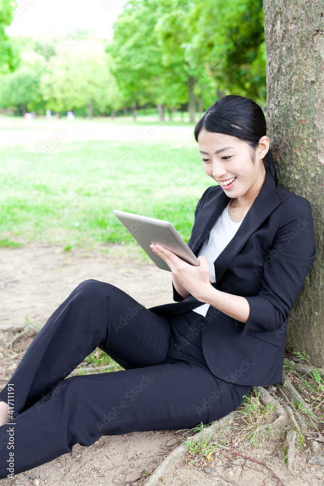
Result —
[[[181, 138], [184, 125], [174, 123], [165, 140], [133, 145], [85, 138], [62, 141], [45, 153], [18, 139], [17, 145], [0, 146], [2, 245], [92, 248], [134, 242], [113, 208], [169, 220], [188, 241], [197, 201], [213, 182], [204, 173], [198, 145]], [[118, 120], [118, 126], [127, 134], [130, 124]], [[6, 128], [0, 128], [3, 137]], [[44, 129], [45, 124], [28, 128], [35, 139]]]

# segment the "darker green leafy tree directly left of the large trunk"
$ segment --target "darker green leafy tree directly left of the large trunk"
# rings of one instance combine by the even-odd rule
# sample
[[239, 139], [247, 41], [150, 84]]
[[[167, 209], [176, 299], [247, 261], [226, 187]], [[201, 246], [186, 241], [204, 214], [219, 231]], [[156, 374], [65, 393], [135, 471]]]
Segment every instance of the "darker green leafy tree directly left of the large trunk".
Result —
[[265, 102], [262, 0], [194, 0], [187, 22], [196, 60], [214, 78], [217, 89]]

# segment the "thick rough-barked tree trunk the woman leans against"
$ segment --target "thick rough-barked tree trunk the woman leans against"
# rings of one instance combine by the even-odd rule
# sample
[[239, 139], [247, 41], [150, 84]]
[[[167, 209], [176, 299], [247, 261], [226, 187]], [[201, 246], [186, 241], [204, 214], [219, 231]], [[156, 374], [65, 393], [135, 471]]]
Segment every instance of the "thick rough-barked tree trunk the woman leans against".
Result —
[[306, 197], [317, 259], [290, 314], [287, 349], [324, 363], [324, 6], [264, 0], [267, 126], [279, 184]]

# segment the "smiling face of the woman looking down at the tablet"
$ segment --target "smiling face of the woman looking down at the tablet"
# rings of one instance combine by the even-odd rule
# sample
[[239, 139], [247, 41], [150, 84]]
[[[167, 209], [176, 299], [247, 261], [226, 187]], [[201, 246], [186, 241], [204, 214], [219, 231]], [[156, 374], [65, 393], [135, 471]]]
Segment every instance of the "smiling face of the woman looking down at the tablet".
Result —
[[198, 145], [205, 173], [229, 197], [249, 197], [260, 191], [266, 176], [262, 159], [269, 150], [268, 137], [262, 137], [254, 150], [236, 137], [203, 129]]

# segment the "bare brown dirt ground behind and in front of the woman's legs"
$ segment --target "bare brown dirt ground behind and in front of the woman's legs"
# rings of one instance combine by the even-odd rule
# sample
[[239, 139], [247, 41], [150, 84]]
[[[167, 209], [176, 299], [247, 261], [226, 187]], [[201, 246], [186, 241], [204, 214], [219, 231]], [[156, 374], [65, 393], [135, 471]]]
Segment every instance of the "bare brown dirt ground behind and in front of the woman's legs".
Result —
[[[44, 324], [69, 293], [87, 278], [112, 283], [146, 307], [172, 302], [171, 274], [153, 263], [136, 264], [129, 259], [104, 257], [100, 250], [64, 252], [56, 246], [0, 248], [0, 327]], [[0, 389], [33, 339], [26, 336], [11, 350], [5, 342], [9, 334], [0, 333]], [[240, 440], [238, 420], [221, 432], [220, 441], [227, 449], [218, 449], [210, 461], [197, 460], [187, 453], [160, 478], [159, 484], [324, 486], [324, 466], [308, 462], [313, 454], [309, 442], [306, 451], [296, 449], [292, 472], [289, 472], [283, 459], [285, 424], [274, 426], [273, 435], [254, 448]], [[183, 440], [184, 431], [103, 436], [90, 447], [77, 444], [71, 453], [50, 463], [18, 474], [14, 479], [2, 479], [0, 486], [125, 485], [127, 475], [133, 471], [138, 471], [140, 477], [128, 486], [142, 485]], [[318, 440], [318, 454], [324, 456], [324, 440], [321, 442], [321, 436]]]

